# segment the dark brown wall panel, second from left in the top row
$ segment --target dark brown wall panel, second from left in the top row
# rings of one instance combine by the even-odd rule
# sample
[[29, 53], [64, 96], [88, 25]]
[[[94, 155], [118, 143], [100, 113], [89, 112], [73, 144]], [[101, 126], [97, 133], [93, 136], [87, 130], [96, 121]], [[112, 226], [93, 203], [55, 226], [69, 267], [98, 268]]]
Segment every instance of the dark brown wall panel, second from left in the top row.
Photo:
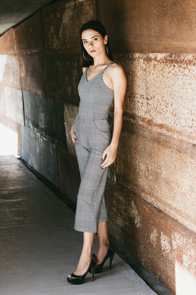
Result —
[[43, 31], [40, 11], [13, 30], [16, 54], [43, 52]]

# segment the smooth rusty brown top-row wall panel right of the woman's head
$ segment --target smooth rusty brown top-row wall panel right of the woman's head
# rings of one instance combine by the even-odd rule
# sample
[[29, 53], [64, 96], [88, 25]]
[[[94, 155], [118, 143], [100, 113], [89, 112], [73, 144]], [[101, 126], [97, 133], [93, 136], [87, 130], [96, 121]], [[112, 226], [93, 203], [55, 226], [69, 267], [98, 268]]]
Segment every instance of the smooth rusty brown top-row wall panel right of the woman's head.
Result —
[[114, 53], [196, 53], [195, 14], [195, 0], [97, 1]]

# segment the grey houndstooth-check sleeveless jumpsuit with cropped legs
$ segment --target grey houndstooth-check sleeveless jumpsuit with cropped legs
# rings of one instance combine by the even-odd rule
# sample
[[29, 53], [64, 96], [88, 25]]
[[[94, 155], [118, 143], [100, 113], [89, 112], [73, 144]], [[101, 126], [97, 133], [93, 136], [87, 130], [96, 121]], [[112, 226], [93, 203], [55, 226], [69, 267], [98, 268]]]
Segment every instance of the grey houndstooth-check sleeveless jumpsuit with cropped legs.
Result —
[[[114, 63], [113, 61], [111, 63]], [[73, 131], [81, 183], [78, 190], [74, 229], [98, 232], [99, 222], [108, 220], [104, 190], [108, 167], [101, 168], [102, 154], [112, 140], [112, 125], [108, 117], [114, 91], [103, 82], [103, 73], [87, 80], [87, 70], [78, 84], [80, 104]]]

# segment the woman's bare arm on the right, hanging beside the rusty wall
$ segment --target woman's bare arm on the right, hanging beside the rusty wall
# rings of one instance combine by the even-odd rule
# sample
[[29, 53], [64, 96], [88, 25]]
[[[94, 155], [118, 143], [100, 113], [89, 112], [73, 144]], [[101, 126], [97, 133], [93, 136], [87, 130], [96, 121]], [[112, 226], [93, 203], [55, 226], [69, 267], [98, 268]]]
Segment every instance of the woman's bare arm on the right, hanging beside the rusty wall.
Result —
[[114, 128], [112, 141], [102, 155], [103, 159], [105, 158], [105, 155], [107, 155], [105, 161], [100, 165], [102, 168], [111, 165], [116, 158], [116, 150], [123, 125], [123, 106], [127, 88], [127, 79], [121, 65], [115, 64], [115, 67], [113, 67], [111, 71], [111, 79], [114, 89]]

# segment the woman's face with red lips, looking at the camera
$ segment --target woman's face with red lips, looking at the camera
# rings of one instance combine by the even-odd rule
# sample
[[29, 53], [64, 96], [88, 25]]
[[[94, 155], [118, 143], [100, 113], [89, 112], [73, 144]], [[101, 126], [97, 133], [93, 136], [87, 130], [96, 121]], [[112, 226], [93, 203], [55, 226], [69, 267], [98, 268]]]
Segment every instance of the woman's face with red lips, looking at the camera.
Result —
[[[88, 29], [82, 32], [82, 42], [83, 46], [92, 57], [98, 56], [100, 53], [105, 51], [105, 42], [107, 42], [107, 35], [103, 37], [94, 30]], [[92, 50], [95, 50], [91, 52]]]

